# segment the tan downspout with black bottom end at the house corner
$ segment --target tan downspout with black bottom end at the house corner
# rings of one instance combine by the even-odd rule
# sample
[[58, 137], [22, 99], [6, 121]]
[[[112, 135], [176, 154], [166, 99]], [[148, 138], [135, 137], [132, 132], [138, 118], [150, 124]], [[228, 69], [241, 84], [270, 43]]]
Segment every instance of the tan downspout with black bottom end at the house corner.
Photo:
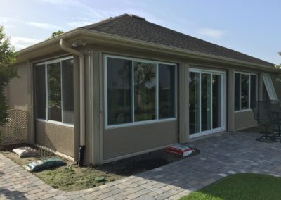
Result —
[[78, 165], [81, 167], [84, 161], [85, 151], [85, 60], [84, 55], [75, 49], [68, 47], [64, 39], [60, 39], [60, 48], [79, 56], [79, 70], [80, 70], [80, 144], [79, 144], [79, 158]]

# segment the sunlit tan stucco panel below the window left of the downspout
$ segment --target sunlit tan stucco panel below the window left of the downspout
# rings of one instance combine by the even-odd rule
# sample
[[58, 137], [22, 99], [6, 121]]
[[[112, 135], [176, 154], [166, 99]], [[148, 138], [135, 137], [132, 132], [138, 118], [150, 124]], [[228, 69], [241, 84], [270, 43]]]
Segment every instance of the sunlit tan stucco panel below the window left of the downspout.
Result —
[[74, 128], [36, 121], [36, 144], [74, 157]]

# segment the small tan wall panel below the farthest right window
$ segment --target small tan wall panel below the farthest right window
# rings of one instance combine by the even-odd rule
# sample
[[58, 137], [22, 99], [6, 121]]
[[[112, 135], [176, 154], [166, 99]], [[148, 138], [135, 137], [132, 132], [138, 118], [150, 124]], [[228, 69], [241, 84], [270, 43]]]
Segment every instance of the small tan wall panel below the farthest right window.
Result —
[[257, 125], [256, 120], [254, 120], [253, 111], [234, 113], [234, 125], [235, 125], [235, 130], [241, 130], [243, 128]]

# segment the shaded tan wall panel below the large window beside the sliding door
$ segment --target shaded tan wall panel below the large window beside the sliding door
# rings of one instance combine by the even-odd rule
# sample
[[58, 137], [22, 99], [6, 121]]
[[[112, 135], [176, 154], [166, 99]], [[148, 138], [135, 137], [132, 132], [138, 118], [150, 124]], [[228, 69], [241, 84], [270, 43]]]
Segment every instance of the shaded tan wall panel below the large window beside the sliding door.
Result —
[[113, 158], [178, 142], [178, 120], [107, 129], [103, 158]]

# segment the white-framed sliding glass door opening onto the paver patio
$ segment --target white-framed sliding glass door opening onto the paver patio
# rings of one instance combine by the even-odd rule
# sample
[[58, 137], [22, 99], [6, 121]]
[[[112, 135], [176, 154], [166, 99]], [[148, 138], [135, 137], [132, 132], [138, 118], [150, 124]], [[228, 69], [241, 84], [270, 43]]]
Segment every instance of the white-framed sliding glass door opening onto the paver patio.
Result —
[[224, 73], [190, 69], [189, 76], [190, 137], [224, 130]]

